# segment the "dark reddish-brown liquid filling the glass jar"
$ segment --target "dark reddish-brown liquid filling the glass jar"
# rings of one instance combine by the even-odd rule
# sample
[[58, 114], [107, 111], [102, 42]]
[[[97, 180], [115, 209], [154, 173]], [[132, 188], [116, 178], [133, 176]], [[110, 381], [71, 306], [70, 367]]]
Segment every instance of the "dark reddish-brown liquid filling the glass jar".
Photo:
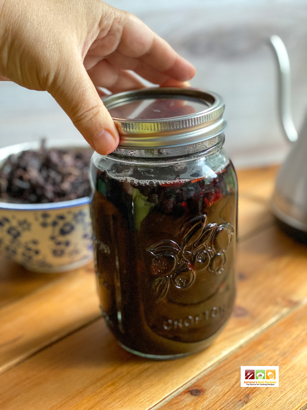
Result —
[[236, 177], [142, 185], [98, 171], [92, 202], [99, 297], [117, 339], [149, 355], [206, 347], [234, 298]]

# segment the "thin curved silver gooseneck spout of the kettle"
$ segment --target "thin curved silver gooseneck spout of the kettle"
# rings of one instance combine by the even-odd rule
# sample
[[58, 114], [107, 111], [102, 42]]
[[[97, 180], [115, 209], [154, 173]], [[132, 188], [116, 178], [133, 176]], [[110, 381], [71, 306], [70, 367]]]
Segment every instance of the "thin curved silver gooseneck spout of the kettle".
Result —
[[278, 115], [284, 135], [290, 142], [298, 139], [298, 133], [294, 127], [291, 116], [291, 78], [290, 62], [287, 49], [278, 36], [270, 37], [270, 45], [273, 48], [278, 63]]

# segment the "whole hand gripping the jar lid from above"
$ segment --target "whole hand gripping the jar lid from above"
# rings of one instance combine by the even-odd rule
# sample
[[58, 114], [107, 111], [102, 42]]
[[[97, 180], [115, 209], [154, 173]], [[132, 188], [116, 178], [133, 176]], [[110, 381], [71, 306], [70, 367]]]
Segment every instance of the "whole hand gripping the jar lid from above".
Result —
[[117, 129], [95, 86], [139, 89], [129, 71], [184, 87], [194, 68], [138, 18], [101, 0], [0, 0], [0, 80], [47, 90], [100, 154]]

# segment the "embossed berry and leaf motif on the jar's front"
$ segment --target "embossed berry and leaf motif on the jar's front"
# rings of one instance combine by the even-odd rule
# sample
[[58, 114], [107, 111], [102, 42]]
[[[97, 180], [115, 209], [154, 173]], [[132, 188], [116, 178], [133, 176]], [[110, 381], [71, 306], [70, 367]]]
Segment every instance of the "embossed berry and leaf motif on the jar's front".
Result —
[[226, 262], [225, 251], [230, 245], [233, 226], [230, 223], [206, 224], [201, 215], [185, 223], [181, 242], [163, 239], [146, 249], [153, 255], [151, 273], [156, 276], [152, 289], [156, 302], [163, 299], [170, 285], [185, 289], [192, 285], [197, 271], [220, 275]]

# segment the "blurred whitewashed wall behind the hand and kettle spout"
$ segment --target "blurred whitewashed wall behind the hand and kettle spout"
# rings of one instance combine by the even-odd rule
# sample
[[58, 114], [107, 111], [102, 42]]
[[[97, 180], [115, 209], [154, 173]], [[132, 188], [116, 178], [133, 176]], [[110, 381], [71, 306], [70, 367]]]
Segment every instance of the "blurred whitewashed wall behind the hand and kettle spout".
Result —
[[[131, 11], [197, 69], [193, 87], [226, 103], [225, 148], [237, 167], [282, 161], [289, 149], [278, 125], [276, 71], [267, 45], [278, 34], [292, 69], [293, 118], [307, 109], [307, 1], [110, 0]], [[50, 95], [0, 83], [0, 146], [48, 138], [79, 138]]]

